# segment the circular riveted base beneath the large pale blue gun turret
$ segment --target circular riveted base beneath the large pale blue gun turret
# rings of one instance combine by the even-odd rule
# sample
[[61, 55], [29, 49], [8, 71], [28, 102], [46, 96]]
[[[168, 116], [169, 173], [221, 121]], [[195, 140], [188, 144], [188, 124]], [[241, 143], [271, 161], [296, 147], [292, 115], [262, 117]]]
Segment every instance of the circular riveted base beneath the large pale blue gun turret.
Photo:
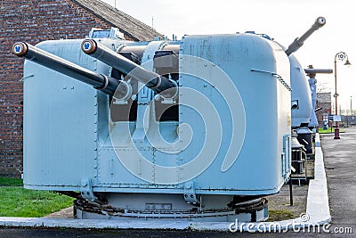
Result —
[[[268, 201], [265, 198], [236, 200], [235, 196], [205, 195], [206, 202], [203, 205], [187, 203], [182, 200], [182, 195], [176, 196], [179, 194], [163, 194], [166, 195], [164, 197], [161, 195], [114, 193], [110, 194], [111, 202], [104, 204], [76, 200], [74, 213], [79, 219], [160, 219], [196, 222], [235, 222], [238, 219], [240, 222], [256, 222], [268, 218]], [[232, 201], [225, 202], [231, 197], [234, 198]]]

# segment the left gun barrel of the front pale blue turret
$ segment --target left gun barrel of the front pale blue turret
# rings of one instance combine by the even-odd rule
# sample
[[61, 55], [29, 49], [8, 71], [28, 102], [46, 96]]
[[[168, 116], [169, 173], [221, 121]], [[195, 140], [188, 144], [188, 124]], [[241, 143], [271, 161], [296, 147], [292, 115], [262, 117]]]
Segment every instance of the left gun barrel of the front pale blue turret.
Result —
[[130, 91], [129, 85], [123, 83], [123, 81], [118, 81], [116, 78], [110, 78], [91, 70], [87, 70], [73, 62], [69, 62], [57, 55], [54, 55], [53, 53], [48, 53], [26, 42], [15, 43], [12, 46], [12, 53], [31, 62], [36, 62], [51, 70], [58, 71], [71, 78], [82, 81], [98, 90], [101, 90], [105, 94], [114, 95], [117, 86], [119, 85], [121, 90], [126, 91], [123, 92], [123, 94]]

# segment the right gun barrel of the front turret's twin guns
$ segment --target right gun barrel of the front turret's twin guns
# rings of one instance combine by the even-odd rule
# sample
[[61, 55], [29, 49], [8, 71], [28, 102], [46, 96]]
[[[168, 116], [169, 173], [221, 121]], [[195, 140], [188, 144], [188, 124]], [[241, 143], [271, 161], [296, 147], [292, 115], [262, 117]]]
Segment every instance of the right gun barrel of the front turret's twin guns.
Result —
[[93, 39], [85, 39], [82, 43], [82, 50], [97, 60], [142, 82], [157, 94], [162, 94], [164, 97], [174, 97], [178, 92], [178, 87], [174, 81], [143, 69], [142, 66], [131, 62]]

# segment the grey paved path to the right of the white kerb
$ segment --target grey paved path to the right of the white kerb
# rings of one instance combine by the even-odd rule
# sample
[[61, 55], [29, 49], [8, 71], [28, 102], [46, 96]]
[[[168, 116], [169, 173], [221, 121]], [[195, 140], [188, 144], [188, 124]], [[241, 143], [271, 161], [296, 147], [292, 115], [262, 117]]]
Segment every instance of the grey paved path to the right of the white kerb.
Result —
[[356, 237], [356, 127], [344, 128], [341, 139], [320, 135], [328, 177], [332, 227], [352, 227]]

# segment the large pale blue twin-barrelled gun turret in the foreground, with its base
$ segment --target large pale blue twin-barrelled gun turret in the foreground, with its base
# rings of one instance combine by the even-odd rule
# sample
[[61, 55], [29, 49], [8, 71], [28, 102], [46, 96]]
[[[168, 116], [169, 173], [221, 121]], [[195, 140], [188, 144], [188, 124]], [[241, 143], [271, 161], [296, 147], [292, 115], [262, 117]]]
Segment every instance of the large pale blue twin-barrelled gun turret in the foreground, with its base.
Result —
[[79, 192], [78, 218], [261, 221], [289, 179], [291, 63], [271, 39], [92, 36], [12, 51], [27, 59], [24, 186]]

